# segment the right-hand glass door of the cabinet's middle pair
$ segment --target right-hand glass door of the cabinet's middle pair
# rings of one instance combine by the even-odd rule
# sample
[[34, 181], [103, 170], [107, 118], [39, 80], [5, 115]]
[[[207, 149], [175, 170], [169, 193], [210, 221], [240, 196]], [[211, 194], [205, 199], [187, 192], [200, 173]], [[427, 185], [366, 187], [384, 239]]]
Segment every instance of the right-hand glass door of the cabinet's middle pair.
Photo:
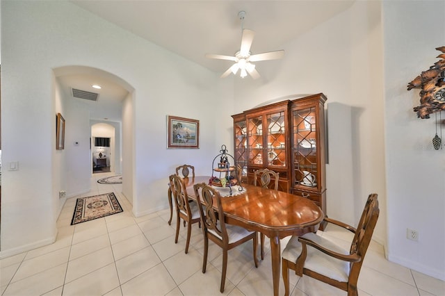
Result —
[[[284, 111], [267, 115], [267, 166], [286, 167], [286, 132]], [[273, 168], [271, 168], [273, 170]]]

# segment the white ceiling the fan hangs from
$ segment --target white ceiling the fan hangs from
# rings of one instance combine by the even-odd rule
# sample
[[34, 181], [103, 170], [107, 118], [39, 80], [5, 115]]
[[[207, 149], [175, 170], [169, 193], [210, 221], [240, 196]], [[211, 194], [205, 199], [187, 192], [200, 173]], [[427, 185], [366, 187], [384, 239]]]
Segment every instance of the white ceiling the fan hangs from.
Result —
[[[279, 49], [286, 51], [286, 42], [348, 9], [354, 1], [70, 0], [108, 22], [221, 74], [232, 62], [205, 58], [205, 54], [232, 56], [239, 50], [241, 20], [238, 13], [241, 10], [246, 13], [244, 28], [255, 31], [251, 52], [260, 54]], [[59, 80], [65, 88], [76, 85], [76, 88], [89, 91], [90, 85], [95, 83], [81, 73], [71, 73]], [[102, 84], [102, 90], [107, 88], [106, 81]], [[120, 99], [127, 94], [124, 93], [120, 94]], [[101, 94], [102, 100], [108, 95], [114, 96]]]

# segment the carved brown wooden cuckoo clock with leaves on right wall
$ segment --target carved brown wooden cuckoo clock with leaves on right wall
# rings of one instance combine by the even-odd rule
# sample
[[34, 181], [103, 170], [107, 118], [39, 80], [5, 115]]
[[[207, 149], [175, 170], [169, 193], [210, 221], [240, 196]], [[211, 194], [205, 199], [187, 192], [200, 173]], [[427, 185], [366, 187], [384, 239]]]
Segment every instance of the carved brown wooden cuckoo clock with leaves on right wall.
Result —
[[[435, 94], [445, 88], [445, 46], [437, 47], [439, 61], [434, 63], [430, 69], [421, 72], [413, 81], [407, 85], [408, 90], [421, 88], [419, 92], [420, 105], [414, 107], [417, 117], [430, 118], [431, 113], [445, 110], [445, 101], [436, 99]], [[442, 94], [443, 96], [443, 94]]]

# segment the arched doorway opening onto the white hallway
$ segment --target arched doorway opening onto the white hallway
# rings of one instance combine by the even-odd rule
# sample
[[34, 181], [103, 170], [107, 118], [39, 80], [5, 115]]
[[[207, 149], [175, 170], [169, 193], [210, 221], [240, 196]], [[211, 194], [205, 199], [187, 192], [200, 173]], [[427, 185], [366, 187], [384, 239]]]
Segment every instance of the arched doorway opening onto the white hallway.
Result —
[[[87, 192], [93, 168], [95, 142], [92, 140], [95, 137], [109, 138], [109, 150], [102, 146], [104, 151], [97, 152], [105, 155], [102, 157], [106, 162], [104, 167], [115, 174], [125, 174], [124, 179], [128, 182], [123, 184], [122, 192], [131, 199], [132, 151], [127, 149], [125, 155], [122, 151], [126, 149], [124, 139], [133, 138], [131, 110], [134, 89], [115, 74], [86, 66], [55, 68], [54, 82], [55, 111], [62, 113], [70, 123], [65, 131], [65, 149], [54, 154], [54, 175], [58, 176], [54, 188], [66, 188], [67, 197]], [[102, 88], [93, 88], [93, 85]], [[93, 133], [95, 124], [108, 126], [108, 133]]]

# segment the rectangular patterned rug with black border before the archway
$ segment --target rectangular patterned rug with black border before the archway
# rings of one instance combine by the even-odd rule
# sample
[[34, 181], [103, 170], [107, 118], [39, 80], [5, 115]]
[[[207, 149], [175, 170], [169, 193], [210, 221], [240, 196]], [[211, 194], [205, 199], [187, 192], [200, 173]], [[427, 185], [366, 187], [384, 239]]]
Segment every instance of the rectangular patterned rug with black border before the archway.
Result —
[[74, 208], [71, 224], [78, 224], [123, 212], [113, 192], [91, 197], [79, 197]]

